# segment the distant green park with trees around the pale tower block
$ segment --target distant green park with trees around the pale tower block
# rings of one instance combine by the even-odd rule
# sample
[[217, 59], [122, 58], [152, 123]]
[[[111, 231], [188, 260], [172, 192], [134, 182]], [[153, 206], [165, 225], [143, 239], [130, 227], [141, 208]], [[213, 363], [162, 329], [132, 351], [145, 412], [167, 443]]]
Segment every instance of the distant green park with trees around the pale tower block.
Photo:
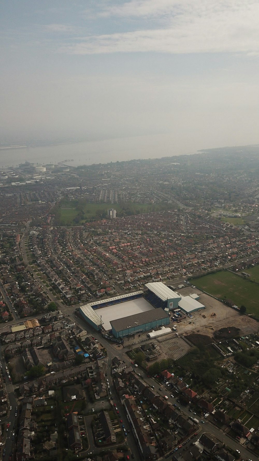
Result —
[[[163, 204], [154, 205], [153, 203], [131, 203], [128, 208], [130, 209], [130, 213], [125, 213], [125, 215], [159, 211], [162, 206]], [[100, 219], [100, 213], [105, 214], [106, 217], [107, 210], [109, 208], [115, 208], [117, 214], [124, 211], [124, 206], [121, 206], [118, 203], [86, 203], [83, 207], [84, 219], [82, 219], [80, 223], [84, 223], [85, 221], [87, 222], [89, 219]], [[76, 206], [73, 206], [73, 204], [61, 206], [59, 208], [59, 221], [62, 222], [63, 225], [70, 225], [73, 219], [77, 216], [77, 213], [78, 209]]]

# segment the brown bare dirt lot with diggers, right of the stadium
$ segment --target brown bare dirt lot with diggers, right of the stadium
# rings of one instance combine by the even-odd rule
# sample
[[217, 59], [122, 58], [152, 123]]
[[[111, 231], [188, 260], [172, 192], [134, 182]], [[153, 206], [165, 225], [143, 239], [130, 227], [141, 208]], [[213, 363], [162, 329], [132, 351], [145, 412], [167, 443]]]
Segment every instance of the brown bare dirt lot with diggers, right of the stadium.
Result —
[[[259, 331], [259, 323], [256, 320], [251, 319], [247, 315], [240, 315], [240, 313], [231, 307], [226, 306], [211, 296], [205, 295], [200, 290], [184, 288], [179, 291], [183, 296], [197, 293], [200, 296], [198, 301], [206, 307], [200, 312], [192, 313], [193, 319], [186, 317], [181, 323], [177, 324], [177, 332], [179, 334], [195, 332], [212, 337], [215, 330], [229, 326], [239, 328], [241, 336]], [[212, 312], [216, 313], [215, 317], [211, 316]], [[203, 314], [206, 315], [206, 319], [202, 317]], [[192, 322], [191, 324], [189, 324], [190, 321]]]

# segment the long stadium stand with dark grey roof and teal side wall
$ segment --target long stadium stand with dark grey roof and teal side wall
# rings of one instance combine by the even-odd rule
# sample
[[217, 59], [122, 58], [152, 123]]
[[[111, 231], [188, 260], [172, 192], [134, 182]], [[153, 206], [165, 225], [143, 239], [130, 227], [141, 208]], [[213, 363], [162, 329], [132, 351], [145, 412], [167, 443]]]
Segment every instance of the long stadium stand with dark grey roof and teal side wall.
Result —
[[110, 321], [115, 338], [154, 330], [158, 326], [169, 325], [169, 322], [169, 315], [161, 307]]

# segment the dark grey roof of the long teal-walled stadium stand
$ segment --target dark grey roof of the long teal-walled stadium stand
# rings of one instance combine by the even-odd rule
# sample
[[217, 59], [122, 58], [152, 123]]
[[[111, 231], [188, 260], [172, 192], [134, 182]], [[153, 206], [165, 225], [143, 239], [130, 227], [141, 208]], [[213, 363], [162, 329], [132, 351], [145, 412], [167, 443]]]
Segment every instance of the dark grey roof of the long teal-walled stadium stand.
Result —
[[129, 315], [128, 317], [122, 317], [121, 319], [111, 320], [112, 328], [115, 331], [127, 330], [139, 325], [145, 325], [148, 322], [153, 322], [160, 319], [168, 318], [168, 314], [158, 307], [158, 309], [152, 309], [147, 312], [141, 312], [135, 315]]

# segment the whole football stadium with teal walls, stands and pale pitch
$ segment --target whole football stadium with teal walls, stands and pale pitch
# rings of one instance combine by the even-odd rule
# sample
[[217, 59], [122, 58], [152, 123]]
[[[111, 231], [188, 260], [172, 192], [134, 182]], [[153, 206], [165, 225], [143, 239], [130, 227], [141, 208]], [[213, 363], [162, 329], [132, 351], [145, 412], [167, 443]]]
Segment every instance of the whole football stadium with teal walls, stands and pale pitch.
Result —
[[165, 326], [171, 319], [205, 308], [196, 294], [181, 296], [162, 282], [145, 286], [146, 292], [140, 290], [91, 302], [79, 307], [78, 313], [94, 330], [118, 341], [137, 333], [168, 330]]

